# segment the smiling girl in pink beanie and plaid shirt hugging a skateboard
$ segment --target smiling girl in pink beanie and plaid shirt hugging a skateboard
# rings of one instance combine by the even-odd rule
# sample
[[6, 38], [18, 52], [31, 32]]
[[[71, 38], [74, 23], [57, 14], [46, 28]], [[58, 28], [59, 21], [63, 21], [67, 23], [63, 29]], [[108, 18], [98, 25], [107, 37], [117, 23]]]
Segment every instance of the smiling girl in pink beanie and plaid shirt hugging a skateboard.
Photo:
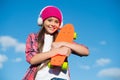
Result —
[[[66, 55], [75, 52], [87, 56], [88, 49], [80, 44], [54, 42], [58, 29], [62, 26], [62, 12], [55, 6], [46, 6], [40, 12], [38, 25], [39, 33], [31, 33], [26, 41], [26, 60], [31, 64], [23, 80], [70, 80], [69, 70], [60, 67], [48, 68], [52, 56]], [[64, 53], [63, 53], [64, 52]]]

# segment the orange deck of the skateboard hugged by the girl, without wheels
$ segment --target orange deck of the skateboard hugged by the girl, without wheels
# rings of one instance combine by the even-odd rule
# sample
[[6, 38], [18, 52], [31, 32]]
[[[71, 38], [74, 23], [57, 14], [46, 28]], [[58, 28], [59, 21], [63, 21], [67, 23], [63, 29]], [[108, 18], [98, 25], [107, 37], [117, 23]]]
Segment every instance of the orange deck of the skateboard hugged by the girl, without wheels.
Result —
[[[55, 42], [69, 42], [72, 43], [74, 38], [74, 27], [72, 24], [66, 24], [62, 27]], [[51, 58], [50, 64], [52, 66], [62, 66], [66, 59], [64, 55], [56, 55]]]

